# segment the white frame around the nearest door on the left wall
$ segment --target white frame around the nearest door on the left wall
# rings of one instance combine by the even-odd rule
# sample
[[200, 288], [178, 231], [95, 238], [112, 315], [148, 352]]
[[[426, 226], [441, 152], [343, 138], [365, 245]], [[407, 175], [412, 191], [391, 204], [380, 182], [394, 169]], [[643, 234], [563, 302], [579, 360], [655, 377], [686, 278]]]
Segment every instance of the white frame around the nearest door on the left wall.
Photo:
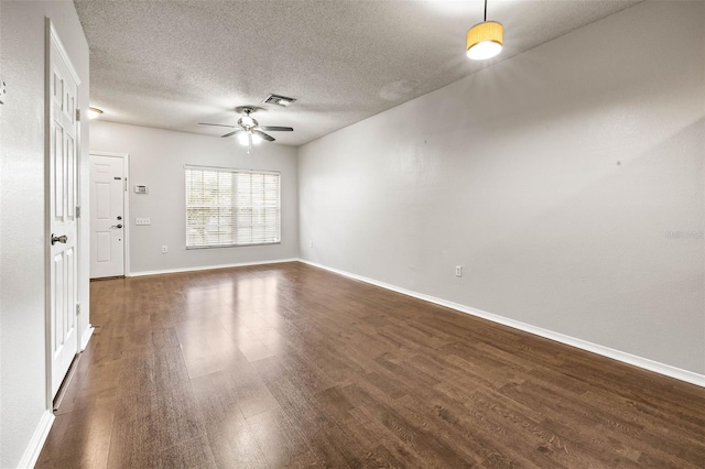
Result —
[[[44, 34], [44, 317], [45, 317], [45, 327], [44, 327], [44, 340], [45, 340], [45, 359], [46, 359], [46, 407], [51, 410], [53, 407], [54, 402], [54, 393], [52, 392], [52, 383], [53, 383], [53, 373], [54, 373], [54, 363], [53, 363], [53, 350], [52, 350], [52, 249], [51, 249], [51, 239], [52, 239], [52, 190], [51, 187], [51, 156], [52, 156], [52, 44], [56, 46], [58, 54], [64, 59], [66, 66], [68, 67], [72, 77], [76, 81], [76, 103], [75, 110], [79, 110], [80, 106], [78, 103], [78, 90], [82, 88], [80, 77], [74, 67], [73, 62], [70, 61], [70, 56], [68, 52], [64, 47], [64, 43], [54, 26], [54, 23], [50, 18], [45, 20], [45, 34]], [[82, 201], [82, 192], [80, 192], [80, 181], [82, 181], [82, 143], [83, 135], [80, 132], [82, 122], [77, 119], [76, 122], [76, 141], [74, 142], [74, 148], [76, 152], [76, 174], [74, 175], [75, 182], [74, 185], [76, 187], [76, 198], [74, 200], [75, 204], [78, 204], [77, 207], [80, 206]], [[80, 229], [83, 226], [83, 220], [76, 214], [76, 304], [79, 303], [80, 298], [80, 280], [83, 279], [83, 272], [79, 268], [80, 260], [83, 259], [83, 247], [84, 240], [80, 237]], [[87, 314], [88, 305], [85, 305], [84, 312], [79, 313], [82, 316]], [[77, 315], [76, 317], [76, 355], [80, 353], [83, 350], [82, 347], [82, 336], [83, 331], [80, 330], [80, 319]], [[90, 325], [89, 325], [90, 327]], [[70, 373], [70, 368], [66, 375]], [[66, 377], [64, 377], [66, 379]]]

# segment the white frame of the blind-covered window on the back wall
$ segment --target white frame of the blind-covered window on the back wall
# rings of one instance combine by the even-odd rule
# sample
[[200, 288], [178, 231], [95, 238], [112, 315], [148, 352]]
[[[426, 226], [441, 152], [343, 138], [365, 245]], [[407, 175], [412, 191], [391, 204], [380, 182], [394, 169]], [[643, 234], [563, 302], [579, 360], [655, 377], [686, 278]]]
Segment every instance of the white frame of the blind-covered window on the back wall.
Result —
[[[189, 227], [188, 225], [188, 211], [189, 209], [194, 209], [196, 207], [194, 207], [193, 205], [189, 206], [188, 205], [188, 200], [189, 200], [189, 190], [188, 190], [188, 172], [189, 171], [202, 171], [202, 172], [216, 172], [216, 173], [230, 173], [230, 174], [257, 174], [257, 175], [265, 175], [265, 176], [276, 176], [276, 192], [278, 192], [278, 197], [276, 197], [276, 221], [275, 221], [275, 236], [272, 238], [271, 241], [263, 241], [263, 240], [251, 240], [251, 242], [237, 242], [237, 234], [232, 234], [232, 243], [208, 243], [205, 241], [206, 239], [206, 234], [205, 232], [200, 236], [200, 238], [204, 240], [204, 243], [194, 243], [194, 244], [189, 244], [189, 230], [193, 229], [197, 229], [196, 227]], [[235, 176], [234, 176], [235, 177]], [[186, 244], [186, 249], [191, 250], [191, 249], [213, 249], [213, 248], [240, 248], [240, 247], [248, 247], [248, 246], [268, 246], [268, 244], [281, 244], [281, 219], [282, 219], [282, 201], [281, 201], [281, 173], [278, 171], [260, 171], [260, 170], [238, 170], [238, 168], [234, 168], [234, 167], [218, 167], [218, 166], [200, 166], [200, 165], [184, 165], [184, 194], [185, 194], [185, 200], [184, 200], [184, 215], [185, 215], [185, 219], [184, 219], [184, 226], [185, 226], [185, 244]], [[237, 200], [236, 200], [236, 190], [232, 190], [232, 196], [231, 196], [231, 205], [230, 206], [224, 206], [224, 205], [212, 205], [208, 207], [203, 206], [204, 209], [214, 209], [214, 208], [230, 208], [230, 210], [232, 210], [231, 217], [232, 217], [232, 221], [230, 225], [226, 225], [226, 226], [230, 226], [232, 227], [232, 230], [237, 230], [237, 215], [236, 215], [236, 210], [237, 210]], [[253, 205], [249, 205], [247, 207], [252, 208]], [[263, 209], [263, 206], [259, 206], [259, 209]], [[221, 228], [220, 225], [218, 225], [218, 222], [215, 223], [215, 227], [219, 230]], [[249, 227], [250, 229], [252, 228], [252, 226]], [[202, 229], [205, 230], [205, 226], [202, 227]]]

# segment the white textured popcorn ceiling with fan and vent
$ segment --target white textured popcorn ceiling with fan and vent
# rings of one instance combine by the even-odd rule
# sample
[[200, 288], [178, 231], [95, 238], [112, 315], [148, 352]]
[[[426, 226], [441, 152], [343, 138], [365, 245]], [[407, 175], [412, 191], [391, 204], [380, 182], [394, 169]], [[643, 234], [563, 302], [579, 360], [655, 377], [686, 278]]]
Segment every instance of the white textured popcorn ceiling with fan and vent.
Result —
[[[210, 135], [260, 108], [301, 145], [551, 41], [640, 0], [490, 0], [505, 50], [478, 63], [465, 34], [482, 0], [75, 0], [102, 120]], [[296, 98], [262, 105], [269, 94]], [[227, 129], [226, 129], [227, 130]]]

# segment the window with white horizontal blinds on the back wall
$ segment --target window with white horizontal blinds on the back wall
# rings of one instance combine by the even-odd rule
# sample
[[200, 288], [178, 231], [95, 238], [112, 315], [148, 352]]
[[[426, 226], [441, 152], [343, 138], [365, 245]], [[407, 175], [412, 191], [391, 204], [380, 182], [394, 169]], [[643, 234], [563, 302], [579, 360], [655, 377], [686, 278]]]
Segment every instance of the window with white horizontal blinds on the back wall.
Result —
[[186, 249], [281, 241], [280, 174], [186, 166]]

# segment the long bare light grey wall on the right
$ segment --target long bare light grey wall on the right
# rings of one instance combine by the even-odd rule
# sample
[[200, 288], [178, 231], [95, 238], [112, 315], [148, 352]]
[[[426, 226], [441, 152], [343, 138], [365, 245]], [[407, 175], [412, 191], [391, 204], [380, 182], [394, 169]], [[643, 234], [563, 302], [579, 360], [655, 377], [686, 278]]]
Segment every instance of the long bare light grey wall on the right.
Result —
[[302, 258], [703, 374], [704, 97], [640, 3], [302, 146]]

